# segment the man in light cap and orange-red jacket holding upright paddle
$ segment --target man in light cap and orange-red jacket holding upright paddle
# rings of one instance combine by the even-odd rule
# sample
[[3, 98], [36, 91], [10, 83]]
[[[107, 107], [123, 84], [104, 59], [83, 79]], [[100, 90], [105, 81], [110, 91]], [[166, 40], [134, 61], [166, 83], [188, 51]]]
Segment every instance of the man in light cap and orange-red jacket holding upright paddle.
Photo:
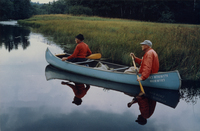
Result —
[[145, 52], [143, 59], [136, 57], [134, 53], [130, 53], [130, 56], [133, 56], [135, 62], [140, 65], [138, 73], [141, 76], [137, 78], [138, 81], [146, 80], [151, 73], [157, 73], [159, 70], [159, 59], [157, 53], [151, 48], [152, 42], [145, 40], [140, 44], [142, 50]]

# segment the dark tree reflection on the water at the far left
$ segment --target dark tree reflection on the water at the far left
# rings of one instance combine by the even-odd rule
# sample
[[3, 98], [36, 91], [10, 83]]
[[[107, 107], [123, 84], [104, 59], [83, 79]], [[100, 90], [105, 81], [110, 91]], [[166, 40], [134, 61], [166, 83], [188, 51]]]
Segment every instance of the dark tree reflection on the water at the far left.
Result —
[[29, 34], [29, 29], [0, 23], [0, 47], [4, 46], [9, 52], [19, 45], [26, 49], [30, 45]]

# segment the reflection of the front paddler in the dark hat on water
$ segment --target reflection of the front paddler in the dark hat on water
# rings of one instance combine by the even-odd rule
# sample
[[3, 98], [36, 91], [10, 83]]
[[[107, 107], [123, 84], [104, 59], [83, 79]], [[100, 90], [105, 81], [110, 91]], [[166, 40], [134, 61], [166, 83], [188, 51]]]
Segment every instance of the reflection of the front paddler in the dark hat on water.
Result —
[[61, 84], [68, 85], [69, 87], [72, 88], [75, 95], [72, 103], [76, 104], [77, 106], [81, 105], [82, 98], [86, 95], [86, 93], [90, 89], [90, 85], [82, 84], [82, 83], [74, 82], [74, 84], [70, 84], [69, 82], [62, 81]]

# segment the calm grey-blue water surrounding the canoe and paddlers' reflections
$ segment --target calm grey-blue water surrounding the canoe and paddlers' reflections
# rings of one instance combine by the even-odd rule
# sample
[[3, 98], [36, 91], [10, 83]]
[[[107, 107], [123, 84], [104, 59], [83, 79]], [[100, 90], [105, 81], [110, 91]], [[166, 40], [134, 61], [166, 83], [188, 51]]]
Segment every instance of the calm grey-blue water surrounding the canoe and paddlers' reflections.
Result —
[[91, 86], [80, 106], [62, 80], [46, 80], [45, 50], [63, 50], [43, 35], [16, 22], [0, 24], [1, 131], [197, 131], [200, 129], [199, 83], [184, 82], [177, 107], [156, 105], [142, 126], [138, 104], [123, 92]]

